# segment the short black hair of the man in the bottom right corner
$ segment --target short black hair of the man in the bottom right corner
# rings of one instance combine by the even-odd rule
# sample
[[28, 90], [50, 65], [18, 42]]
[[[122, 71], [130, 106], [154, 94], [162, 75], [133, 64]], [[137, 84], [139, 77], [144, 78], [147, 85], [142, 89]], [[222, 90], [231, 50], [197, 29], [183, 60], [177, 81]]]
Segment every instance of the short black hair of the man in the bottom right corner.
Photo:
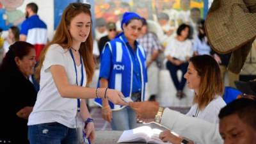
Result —
[[252, 99], [236, 99], [220, 110], [219, 118], [236, 114], [245, 124], [256, 131], [256, 101]]

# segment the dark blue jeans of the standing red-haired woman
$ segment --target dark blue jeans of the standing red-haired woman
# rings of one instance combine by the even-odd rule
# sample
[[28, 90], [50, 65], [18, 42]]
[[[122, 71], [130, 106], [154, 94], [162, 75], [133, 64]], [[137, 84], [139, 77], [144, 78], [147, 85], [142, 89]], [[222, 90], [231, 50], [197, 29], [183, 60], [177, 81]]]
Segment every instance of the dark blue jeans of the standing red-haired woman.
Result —
[[76, 129], [71, 129], [58, 122], [29, 125], [30, 144], [77, 144]]

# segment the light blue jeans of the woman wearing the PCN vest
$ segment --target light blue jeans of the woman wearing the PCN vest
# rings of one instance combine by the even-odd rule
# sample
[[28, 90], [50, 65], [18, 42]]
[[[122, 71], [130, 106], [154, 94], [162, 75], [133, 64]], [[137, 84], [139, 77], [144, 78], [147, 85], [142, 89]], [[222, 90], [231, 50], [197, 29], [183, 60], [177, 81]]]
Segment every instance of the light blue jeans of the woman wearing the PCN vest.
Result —
[[112, 111], [112, 116], [111, 127], [115, 131], [134, 129], [138, 126], [136, 113], [128, 106], [119, 111]]

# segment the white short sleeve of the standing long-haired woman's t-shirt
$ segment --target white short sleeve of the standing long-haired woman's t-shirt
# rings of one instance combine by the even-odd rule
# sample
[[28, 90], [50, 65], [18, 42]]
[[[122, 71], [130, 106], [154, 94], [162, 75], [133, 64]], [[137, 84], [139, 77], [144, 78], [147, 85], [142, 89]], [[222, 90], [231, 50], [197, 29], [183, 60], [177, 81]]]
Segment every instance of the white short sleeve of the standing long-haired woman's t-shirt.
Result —
[[61, 65], [65, 67], [64, 52], [68, 51], [65, 51], [60, 45], [51, 45], [45, 54], [45, 59], [43, 63], [44, 70], [47, 70], [52, 65]]

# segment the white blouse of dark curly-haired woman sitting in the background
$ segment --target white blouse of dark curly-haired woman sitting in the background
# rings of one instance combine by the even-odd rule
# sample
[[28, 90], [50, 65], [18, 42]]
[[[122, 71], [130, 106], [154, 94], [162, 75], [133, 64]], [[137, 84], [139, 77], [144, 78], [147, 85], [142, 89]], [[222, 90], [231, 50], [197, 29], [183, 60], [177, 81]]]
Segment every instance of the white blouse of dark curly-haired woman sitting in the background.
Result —
[[186, 61], [186, 57], [189, 58], [193, 55], [192, 43], [190, 40], [180, 42], [176, 38], [170, 38], [165, 50], [164, 56], [172, 56], [181, 61]]

